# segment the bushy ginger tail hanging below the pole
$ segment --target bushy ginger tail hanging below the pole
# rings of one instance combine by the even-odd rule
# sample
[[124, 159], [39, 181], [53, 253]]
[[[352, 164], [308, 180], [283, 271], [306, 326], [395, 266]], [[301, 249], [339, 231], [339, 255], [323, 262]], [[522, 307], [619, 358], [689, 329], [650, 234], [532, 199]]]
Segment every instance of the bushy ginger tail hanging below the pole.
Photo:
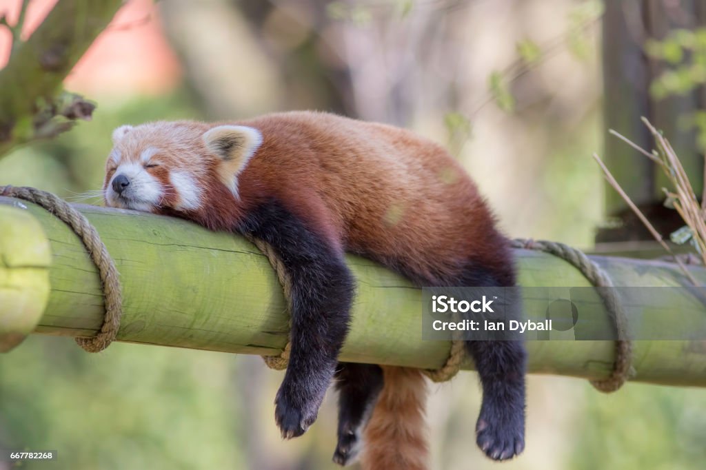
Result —
[[419, 369], [382, 366], [385, 385], [365, 428], [364, 470], [426, 470], [426, 379]]

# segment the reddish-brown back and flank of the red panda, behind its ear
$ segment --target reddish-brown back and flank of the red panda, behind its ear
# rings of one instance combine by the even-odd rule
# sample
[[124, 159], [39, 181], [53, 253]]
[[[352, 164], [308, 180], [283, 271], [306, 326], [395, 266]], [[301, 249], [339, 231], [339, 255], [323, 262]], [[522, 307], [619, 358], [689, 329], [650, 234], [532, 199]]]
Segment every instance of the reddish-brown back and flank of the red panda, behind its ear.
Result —
[[502, 263], [493, 254], [501, 237], [491, 213], [441, 145], [325, 113], [271, 114], [242, 124], [263, 133], [241, 174], [244, 198], [274, 193], [343, 250], [402, 262], [425, 277], [453, 275], [469, 255]]

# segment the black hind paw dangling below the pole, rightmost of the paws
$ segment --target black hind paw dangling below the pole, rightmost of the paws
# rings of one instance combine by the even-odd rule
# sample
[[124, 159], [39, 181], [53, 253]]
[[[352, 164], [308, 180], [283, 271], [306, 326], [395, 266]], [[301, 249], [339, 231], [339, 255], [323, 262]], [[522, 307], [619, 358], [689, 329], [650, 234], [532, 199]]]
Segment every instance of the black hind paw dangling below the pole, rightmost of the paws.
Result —
[[525, 450], [525, 416], [517, 412], [507, 416], [501, 410], [486, 410], [483, 406], [476, 424], [476, 442], [493, 460], [512, 459]]

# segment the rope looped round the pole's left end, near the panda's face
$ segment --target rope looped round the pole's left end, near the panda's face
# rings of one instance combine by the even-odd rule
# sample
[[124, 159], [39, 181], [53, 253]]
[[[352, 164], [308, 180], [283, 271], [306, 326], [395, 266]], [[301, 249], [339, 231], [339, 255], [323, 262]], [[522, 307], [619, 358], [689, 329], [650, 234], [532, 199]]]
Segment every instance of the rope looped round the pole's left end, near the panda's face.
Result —
[[44, 207], [51, 214], [59, 217], [83, 241], [90, 258], [98, 268], [105, 294], [105, 315], [103, 325], [95, 337], [76, 338], [76, 343], [88, 352], [99, 352], [107, 348], [115, 339], [120, 327], [122, 314], [122, 294], [118, 270], [116, 270], [110, 254], [100, 240], [98, 232], [88, 222], [83, 214], [78, 212], [64, 200], [57, 198], [52, 193], [40, 191], [35, 188], [15, 188], [13, 186], [0, 186], [0, 195], [11, 198], [27, 200]]

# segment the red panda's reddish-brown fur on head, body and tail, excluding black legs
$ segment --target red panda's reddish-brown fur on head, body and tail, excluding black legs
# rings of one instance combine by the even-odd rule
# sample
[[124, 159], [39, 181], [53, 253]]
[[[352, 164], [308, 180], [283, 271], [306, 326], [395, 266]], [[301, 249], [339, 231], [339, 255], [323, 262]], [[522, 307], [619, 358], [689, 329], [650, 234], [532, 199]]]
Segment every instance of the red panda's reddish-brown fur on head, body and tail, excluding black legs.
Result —
[[[340, 251], [363, 253], [417, 281], [453, 279], [469, 260], [508, 272], [508, 251], [498, 250], [505, 239], [493, 228], [474, 183], [440, 145], [404, 129], [323, 113], [233, 123], [263, 135], [238, 176], [237, 199], [217, 176], [219, 157], [202, 140], [220, 124], [225, 123], [153, 123], [126, 134], [121, 143], [126, 158], [157, 147], [156, 161], [188, 171], [203, 189], [198, 210], [155, 212], [232, 230], [258, 203], [276, 198]], [[150, 173], [168, 190], [168, 177], [160, 171]], [[111, 177], [108, 168], [105, 186]], [[167, 207], [174, 205], [171, 197], [164, 199]], [[426, 468], [425, 395], [419, 371], [385, 368], [385, 389], [365, 431], [365, 468]]]

